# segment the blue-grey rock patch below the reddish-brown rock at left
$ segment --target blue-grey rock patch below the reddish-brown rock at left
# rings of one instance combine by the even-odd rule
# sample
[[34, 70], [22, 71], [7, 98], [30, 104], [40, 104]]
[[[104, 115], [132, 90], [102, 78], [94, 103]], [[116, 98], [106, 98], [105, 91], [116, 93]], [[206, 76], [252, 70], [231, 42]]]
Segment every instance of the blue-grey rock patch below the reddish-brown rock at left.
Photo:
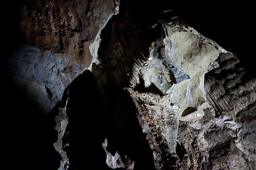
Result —
[[[17, 86], [31, 86], [27, 88], [28, 98], [41, 105], [43, 113], [50, 113], [51, 109], [61, 100], [65, 88], [81, 72], [78, 62], [70, 63], [68, 55], [40, 50], [30, 45], [21, 45], [9, 58], [10, 72], [17, 81]], [[22, 84], [23, 79], [26, 84]], [[18, 83], [19, 82], [19, 83]], [[42, 86], [44, 95], [35, 96], [37, 86]], [[41, 88], [41, 89], [42, 89]]]

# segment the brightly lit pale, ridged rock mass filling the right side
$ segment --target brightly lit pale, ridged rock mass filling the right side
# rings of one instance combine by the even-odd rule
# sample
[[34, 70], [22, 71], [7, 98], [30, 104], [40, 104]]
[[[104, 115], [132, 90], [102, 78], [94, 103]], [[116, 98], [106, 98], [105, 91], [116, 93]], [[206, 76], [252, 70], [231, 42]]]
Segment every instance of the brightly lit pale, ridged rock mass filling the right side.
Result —
[[[152, 43], [148, 61], [134, 67], [128, 88], [156, 169], [254, 169], [256, 79], [246, 78], [237, 57], [193, 28], [163, 26], [166, 35], [161, 40], [161, 54], [154, 54]], [[155, 63], [158, 69], [154, 72], [144, 71]], [[177, 83], [170, 66], [189, 79]], [[170, 71], [172, 74], [163, 74]], [[159, 79], [148, 82], [147, 77]], [[145, 89], [153, 84], [161, 94], [137, 91], [143, 83]], [[252, 116], [252, 120], [247, 124], [244, 116]], [[251, 128], [245, 130], [244, 126]]]

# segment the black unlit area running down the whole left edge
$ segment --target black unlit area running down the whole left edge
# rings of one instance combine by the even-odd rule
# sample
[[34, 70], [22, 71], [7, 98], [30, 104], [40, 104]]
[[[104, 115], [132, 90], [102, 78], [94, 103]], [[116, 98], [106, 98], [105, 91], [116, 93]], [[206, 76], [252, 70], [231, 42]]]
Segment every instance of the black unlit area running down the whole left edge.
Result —
[[42, 115], [41, 109], [28, 98], [9, 74], [7, 60], [21, 45], [23, 35], [19, 27], [20, 7], [27, 0], [3, 1], [1, 11], [2, 58], [1, 69], [1, 141], [4, 169], [56, 170], [60, 155], [53, 143], [57, 140], [54, 115]]

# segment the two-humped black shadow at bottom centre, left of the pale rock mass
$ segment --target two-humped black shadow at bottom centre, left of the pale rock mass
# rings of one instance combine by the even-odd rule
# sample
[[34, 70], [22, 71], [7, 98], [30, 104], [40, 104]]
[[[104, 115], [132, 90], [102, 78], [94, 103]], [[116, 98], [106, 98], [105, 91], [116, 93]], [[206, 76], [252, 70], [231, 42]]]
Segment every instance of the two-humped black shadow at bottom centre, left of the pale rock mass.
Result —
[[125, 154], [134, 169], [154, 169], [153, 154], [136, 117], [137, 110], [127, 91], [116, 89], [99, 94], [97, 81], [85, 71], [68, 86], [70, 169], [110, 169], [105, 163], [102, 142], [107, 150]]

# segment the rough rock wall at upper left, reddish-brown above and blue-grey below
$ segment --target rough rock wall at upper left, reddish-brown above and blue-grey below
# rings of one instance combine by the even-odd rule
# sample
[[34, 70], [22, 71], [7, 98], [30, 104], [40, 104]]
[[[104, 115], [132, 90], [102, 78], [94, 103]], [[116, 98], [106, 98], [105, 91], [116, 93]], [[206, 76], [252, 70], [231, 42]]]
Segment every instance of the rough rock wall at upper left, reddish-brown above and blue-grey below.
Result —
[[27, 79], [27, 86], [33, 86], [33, 82], [46, 86], [48, 96], [41, 96], [43, 102], [28, 89], [43, 114], [50, 112], [68, 84], [90, 66], [89, 46], [118, 13], [118, 2], [28, 1], [20, 7], [19, 24], [25, 42], [9, 57], [9, 72]]

